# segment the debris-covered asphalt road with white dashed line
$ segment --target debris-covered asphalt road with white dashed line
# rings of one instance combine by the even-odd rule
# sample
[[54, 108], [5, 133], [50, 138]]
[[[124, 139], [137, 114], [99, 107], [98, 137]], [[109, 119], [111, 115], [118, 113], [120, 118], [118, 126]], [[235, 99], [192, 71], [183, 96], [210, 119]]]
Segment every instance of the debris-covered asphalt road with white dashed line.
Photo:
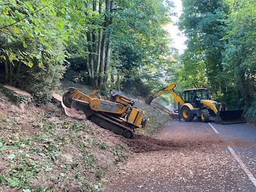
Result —
[[104, 191], [256, 191], [256, 127], [174, 121], [173, 150], [135, 154]]

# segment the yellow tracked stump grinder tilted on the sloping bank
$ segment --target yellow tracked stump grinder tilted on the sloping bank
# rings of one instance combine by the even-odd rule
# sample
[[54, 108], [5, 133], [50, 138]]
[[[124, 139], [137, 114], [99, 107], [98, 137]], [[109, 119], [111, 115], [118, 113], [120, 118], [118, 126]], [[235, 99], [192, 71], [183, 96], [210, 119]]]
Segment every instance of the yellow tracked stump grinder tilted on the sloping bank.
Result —
[[88, 120], [126, 138], [132, 139], [137, 128], [146, 129], [149, 119], [144, 111], [132, 107], [134, 101], [121, 92], [109, 95], [110, 100], [104, 100], [97, 90], [85, 95], [71, 87], [62, 100], [66, 107], [82, 110]]

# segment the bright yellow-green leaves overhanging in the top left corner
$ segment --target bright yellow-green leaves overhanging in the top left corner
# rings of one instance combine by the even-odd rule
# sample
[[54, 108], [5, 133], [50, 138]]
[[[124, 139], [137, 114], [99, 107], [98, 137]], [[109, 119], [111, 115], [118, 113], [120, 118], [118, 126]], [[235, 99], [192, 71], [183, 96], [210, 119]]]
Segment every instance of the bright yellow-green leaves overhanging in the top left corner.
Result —
[[58, 53], [52, 46], [52, 42], [68, 38], [63, 31], [65, 20], [56, 17], [53, 3], [17, 0], [6, 4], [0, 1], [0, 35], [4, 37], [1, 55], [4, 60], [22, 61], [32, 67], [35, 61], [39, 66], [43, 65], [43, 58], [64, 59], [62, 50]]

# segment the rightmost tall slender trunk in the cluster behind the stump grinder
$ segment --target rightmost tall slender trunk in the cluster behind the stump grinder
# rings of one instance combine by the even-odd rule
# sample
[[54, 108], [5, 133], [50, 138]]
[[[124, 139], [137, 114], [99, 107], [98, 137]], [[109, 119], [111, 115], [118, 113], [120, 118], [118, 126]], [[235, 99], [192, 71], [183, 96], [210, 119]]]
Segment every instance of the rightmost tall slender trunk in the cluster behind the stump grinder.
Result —
[[104, 35], [102, 36], [101, 54], [100, 54], [100, 85], [104, 84], [104, 69], [105, 69], [105, 45], [107, 40], [106, 28], [109, 26], [109, 0], [105, 0], [105, 22], [104, 22]]

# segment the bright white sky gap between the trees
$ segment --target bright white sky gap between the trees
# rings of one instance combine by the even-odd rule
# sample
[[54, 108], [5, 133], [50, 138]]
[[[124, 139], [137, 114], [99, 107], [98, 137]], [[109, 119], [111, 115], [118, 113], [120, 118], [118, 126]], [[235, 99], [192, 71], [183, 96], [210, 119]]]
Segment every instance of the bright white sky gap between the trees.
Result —
[[[178, 17], [172, 17], [173, 23], [178, 21], [179, 16], [182, 12], [182, 3], [181, 0], [172, 0], [176, 6], [174, 11], [178, 14]], [[179, 31], [178, 26], [175, 26], [174, 24], [168, 24], [166, 26], [167, 31], [171, 34], [171, 38], [173, 39], [173, 44], [171, 46], [174, 46], [179, 50], [179, 53], [183, 53], [184, 49], [186, 49], [186, 45], [184, 45], [184, 41], [186, 41], [186, 37], [182, 34], [181, 31]]]

